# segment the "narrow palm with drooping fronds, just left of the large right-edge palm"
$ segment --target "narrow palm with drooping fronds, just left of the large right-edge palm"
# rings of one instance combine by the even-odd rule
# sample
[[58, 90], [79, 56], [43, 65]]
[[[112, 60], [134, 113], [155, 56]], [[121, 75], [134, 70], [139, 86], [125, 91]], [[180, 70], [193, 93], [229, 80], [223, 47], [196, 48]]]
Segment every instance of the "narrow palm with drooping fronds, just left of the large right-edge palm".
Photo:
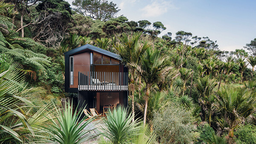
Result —
[[209, 125], [211, 125], [211, 117], [214, 112], [214, 108], [212, 105], [214, 104], [214, 98], [212, 96], [213, 89], [217, 86], [215, 80], [210, 80], [209, 76], [205, 76], [204, 78], [199, 78], [198, 83], [196, 84], [196, 88], [200, 93], [200, 97], [198, 99], [199, 104], [202, 107], [203, 111], [203, 120], [206, 119], [206, 114], [209, 115]]

